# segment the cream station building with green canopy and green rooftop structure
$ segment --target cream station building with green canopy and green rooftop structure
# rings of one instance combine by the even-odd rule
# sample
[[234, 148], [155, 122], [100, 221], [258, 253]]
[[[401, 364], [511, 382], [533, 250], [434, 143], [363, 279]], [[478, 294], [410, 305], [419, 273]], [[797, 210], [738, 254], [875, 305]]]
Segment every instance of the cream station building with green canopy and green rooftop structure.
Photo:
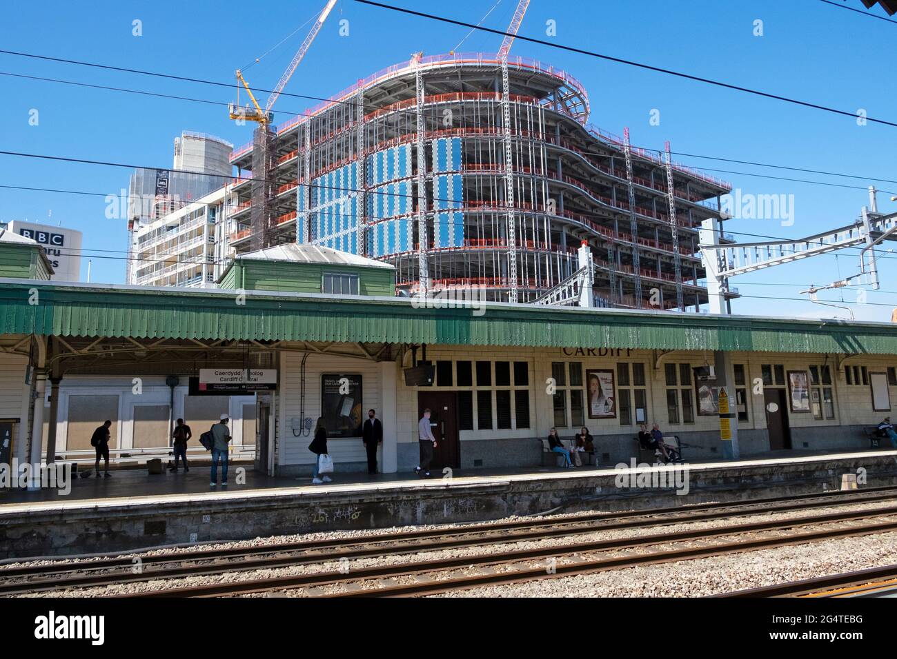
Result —
[[106, 419], [120, 454], [168, 455], [182, 417], [205, 455], [196, 438], [226, 412], [241, 419], [231, 451], [263, 473], [310, 473], [318, 417], [337, 471], [360, 472], [375, 409], [379, 467], [396, 473], [417, 464], [424, 408], [438, 468], [540, 465], [549, 429], [568, 441], [583, 426], [598, 464], [629, 462], [643, 422], [690, 460], [734, 442], [828, 451], [869, 447], [897, 401], [890, 324], [409, 298], [393, 265], [313, 245], [239, 256], [215, 290], [28, 268], [0, 280], [4, 463], [91, 463]]

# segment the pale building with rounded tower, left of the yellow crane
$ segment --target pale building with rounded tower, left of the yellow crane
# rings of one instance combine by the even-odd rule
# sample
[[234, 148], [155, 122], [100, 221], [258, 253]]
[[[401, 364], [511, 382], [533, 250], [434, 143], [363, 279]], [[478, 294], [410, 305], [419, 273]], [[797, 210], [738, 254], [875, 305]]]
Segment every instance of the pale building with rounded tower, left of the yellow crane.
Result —
[[226, 203], [232, 149], [221, 138], [185, 131], [174, 140], [172, 169], [141, 168], [131, 175], [127, 283], [214, 282], [208, 264], [213, 263], [215, 243], [209, 232], [213, 234]]

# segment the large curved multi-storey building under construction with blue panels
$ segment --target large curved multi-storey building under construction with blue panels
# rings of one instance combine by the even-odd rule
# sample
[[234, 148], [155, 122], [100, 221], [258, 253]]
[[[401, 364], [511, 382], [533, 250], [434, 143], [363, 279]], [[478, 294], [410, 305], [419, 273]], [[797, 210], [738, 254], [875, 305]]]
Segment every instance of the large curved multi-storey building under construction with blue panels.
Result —
[[[697, 231], [718, 221], [730, 187], [668, 171], [657, 152], [629, 149], [627, 168], [628, 146], [588, 124], [588, 94], [570, 74], [523, 57], [509, 58], [507, 73], [506, 98], [497, 56], [414, 57], [278, 126], [268, 177], [276, 240], [395, 264], [409, 294], [520, 302], [575, 273], [585, 241], [597, 306], [706, 302]], [[255, 231], [252, 145], [231, 162], [245, 177], [230, 218], [239, 252]]]

